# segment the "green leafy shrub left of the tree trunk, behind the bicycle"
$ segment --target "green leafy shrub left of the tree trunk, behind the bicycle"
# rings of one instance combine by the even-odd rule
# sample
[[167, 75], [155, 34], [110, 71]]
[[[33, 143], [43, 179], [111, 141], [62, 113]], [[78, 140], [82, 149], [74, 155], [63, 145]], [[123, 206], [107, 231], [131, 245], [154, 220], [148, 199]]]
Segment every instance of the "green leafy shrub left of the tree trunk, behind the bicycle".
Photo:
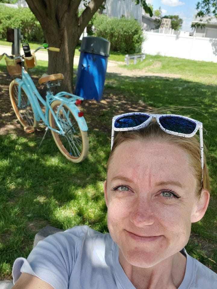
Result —
[[20, 28], [23, 42], [44, 42], [44, 33], [39, 21], [29, 8], [11, 8], [0, 5], [0, 38], [7, 39], [7, 27]]

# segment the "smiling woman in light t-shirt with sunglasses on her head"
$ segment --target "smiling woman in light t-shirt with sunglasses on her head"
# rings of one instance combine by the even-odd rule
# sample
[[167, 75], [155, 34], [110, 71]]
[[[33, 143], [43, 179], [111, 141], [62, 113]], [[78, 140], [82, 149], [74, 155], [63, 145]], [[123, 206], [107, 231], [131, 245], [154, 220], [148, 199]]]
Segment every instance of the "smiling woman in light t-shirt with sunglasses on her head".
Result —
[[217, 274], [184, 249], [209, 203], [202, 123], [114, 117], [104, 191], [109, 234], [77, 226], [47, 237], [15, 261], [14, 288], [217, 288]]

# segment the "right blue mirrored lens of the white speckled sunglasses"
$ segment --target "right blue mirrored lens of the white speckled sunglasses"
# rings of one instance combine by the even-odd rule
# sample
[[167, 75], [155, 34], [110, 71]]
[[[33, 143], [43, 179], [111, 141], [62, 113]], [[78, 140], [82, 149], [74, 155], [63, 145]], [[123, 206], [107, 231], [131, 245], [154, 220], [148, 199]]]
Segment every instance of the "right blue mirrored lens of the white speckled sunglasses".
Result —
[[185, 134], [192, 133], [196, 128], [196, 123], [182, 117], [162, 116], [159, 118], [160, 124], [172, 132]]

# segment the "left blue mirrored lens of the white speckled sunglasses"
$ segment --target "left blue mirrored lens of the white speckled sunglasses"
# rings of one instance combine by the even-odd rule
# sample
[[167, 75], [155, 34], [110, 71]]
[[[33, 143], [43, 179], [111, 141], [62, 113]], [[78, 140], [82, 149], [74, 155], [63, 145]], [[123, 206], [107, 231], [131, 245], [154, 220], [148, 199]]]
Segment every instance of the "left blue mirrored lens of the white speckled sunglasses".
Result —
[[140, 124], [144, 123], [147, 119], [149, 119], [148, 115], [141, 115], [141, 114], [132, 114], [126, 115], [124, 117], [119, 117], [115, 120], [115, 128], [125, 128], [125, 127], [135, 127], [139, 126]]

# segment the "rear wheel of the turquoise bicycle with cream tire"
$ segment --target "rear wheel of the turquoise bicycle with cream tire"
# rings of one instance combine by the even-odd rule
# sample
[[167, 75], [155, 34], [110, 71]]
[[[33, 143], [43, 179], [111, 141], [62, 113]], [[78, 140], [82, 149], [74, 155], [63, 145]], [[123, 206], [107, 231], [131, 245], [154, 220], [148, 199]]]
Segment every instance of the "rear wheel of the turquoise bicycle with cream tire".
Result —
[[[61, 109], [59, 110], [59, 107]], [[88, 153], [89, 141], [87, 132], [80, 129], [74, 114], [70, 108], [61, 101], [55, 100], [51, 104], [58, 123], [64, 131], [64, 135], [51, 130], [54, 141], [61, 153], [70, 161], [80, 163]], [[49, 124], [52, 128], [59, 130], [56, 121], [49, 110]]]

